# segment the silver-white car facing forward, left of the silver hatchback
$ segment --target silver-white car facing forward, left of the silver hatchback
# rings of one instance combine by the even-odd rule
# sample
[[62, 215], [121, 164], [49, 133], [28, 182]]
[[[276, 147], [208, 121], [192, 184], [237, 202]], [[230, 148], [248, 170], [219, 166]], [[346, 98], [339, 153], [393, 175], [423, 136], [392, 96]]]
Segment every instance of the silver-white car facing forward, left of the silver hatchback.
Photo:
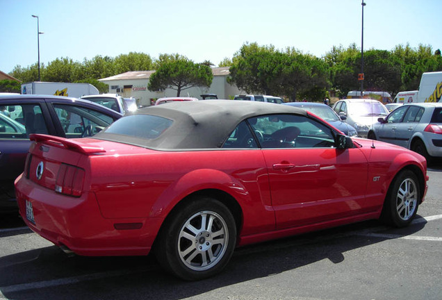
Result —
[[353, 126], [361, 138], [367, 138], [368, 131], [379, 117], [388, 115], [384, 104], [373, 99], [342, 99], [334, 103], [333, 110], [347, 117], [345, 122]]

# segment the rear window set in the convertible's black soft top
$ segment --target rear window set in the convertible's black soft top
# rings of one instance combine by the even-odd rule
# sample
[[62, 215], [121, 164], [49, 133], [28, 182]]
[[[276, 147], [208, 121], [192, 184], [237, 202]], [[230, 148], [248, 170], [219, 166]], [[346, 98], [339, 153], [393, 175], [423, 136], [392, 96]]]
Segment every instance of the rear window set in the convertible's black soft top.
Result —
[[154, 139], [158, 138], [173, 121], [164, 117], [153, 115], [130, 115], [123, 117], [106, 128], [104, 133], [127, 135], [133, 138]]

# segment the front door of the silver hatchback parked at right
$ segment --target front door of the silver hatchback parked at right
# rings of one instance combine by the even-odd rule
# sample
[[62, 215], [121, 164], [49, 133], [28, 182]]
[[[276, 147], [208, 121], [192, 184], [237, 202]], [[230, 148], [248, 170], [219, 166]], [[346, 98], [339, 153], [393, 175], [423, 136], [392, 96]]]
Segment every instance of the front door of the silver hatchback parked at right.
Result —
[[407, 113], [409, 106], [401, 106], [400, 108], [396, 108], [391, 112], [388, 117], [386, 117], [386, 121], [382, 124], [378, 124], [376, 126], [376, 138], [377, 140], [381, 140], [383, 142], [389, 142], [391, 144], [401, 145], [400, 136], [398, 139], [398, 127], [404, 118], [405, 113]]

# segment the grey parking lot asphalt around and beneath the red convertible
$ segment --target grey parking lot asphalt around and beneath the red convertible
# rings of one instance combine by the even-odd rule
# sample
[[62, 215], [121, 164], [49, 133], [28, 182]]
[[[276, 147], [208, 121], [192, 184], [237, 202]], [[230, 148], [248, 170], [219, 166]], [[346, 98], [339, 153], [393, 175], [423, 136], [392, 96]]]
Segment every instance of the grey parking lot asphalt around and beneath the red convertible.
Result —
[[237, 249], [184, 282], [151, 256], [69, 258], [15, 217], [0, 223], [0, 299], [441, 299], [442, 167], [407, 228], [362, 222]]

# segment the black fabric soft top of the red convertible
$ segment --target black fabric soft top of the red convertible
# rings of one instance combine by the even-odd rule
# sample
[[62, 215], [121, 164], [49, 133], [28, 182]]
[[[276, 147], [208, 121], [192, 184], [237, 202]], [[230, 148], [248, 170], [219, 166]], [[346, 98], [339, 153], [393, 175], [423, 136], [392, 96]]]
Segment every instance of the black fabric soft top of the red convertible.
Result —
[[[151, 149], [213, 149], [221, 147], [243, 119], [281, 113], [307, 114], [300, 108], [255, 101], [179, 101], [141, 108], [133, 113], [171, 119], [172, 126], [158, 138], [141, 139], [106, 131], [97, 133], [94, 138], [136, 144]], [[129, 122], [129, 117], [123, 117], [117, 122]]]

